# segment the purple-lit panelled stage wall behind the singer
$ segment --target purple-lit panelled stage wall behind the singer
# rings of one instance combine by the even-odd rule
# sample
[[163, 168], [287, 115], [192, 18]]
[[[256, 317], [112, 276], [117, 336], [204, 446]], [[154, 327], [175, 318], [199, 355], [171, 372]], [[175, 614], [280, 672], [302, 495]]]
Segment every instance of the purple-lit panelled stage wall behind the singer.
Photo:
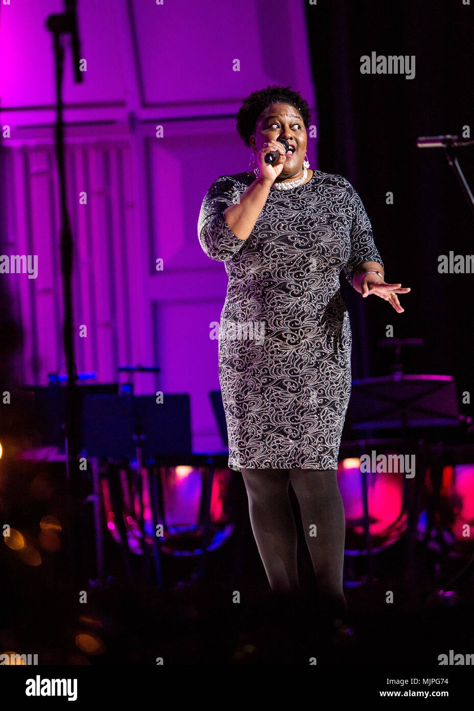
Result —
[[[158, 376], [135, 376], [136, 392], [189, 392], [194, 451], [219, 449], [208, 397], [219, 388], [209, 324], [219, 321], [227, 275], [199, 247], [197, 218], [217, 176], [248, 169], [250, 150], [235, 128], [243, 97], [291, 85], [317, 126], [304, 4], [78, 5], [87, 64], [75, 84], [66, 43], [64, 90], [77, 369], [95, 370], [106, 383], [118, 379], [118, 365], [158, 365]], [[45, 384], [48, 373], [65, 372], [54, 63], [45, 28], [62, 4], [18, 1], [0, 11], [1, 253], [38, 255], [35, 279], [1, 277], [23, 326], [18, 377]], [[317, 167], [316, 139], [308, 156]]]

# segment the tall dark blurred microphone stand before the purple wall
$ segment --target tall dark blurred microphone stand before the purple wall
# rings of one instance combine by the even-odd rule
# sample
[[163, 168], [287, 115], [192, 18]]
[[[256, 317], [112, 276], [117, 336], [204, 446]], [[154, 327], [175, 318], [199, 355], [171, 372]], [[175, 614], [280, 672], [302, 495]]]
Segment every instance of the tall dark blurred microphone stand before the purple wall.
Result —
[[62, 101], [62, 80], [65, 63], [65, 50], [61, 37], [65, 34], [72, 36], [72, 51], [74, 55], [75, 80], [82, 82], [82, 73], [79, 71], [79, 39], [77, 33], [77, 16], [75, 0], [65, 0], [66, 11], [62, 14], [50, 15], [46, 26], [53, 33], [53, 50], [55, 57], [55, 88], [56, 88], [56, 122], [55, 122], [55, 154], [57, 161], [59, 203], [60, 203], [60, 261], [62, 275], [63, 296], [63, 325], [62, 338], [64, 344], [65, 361], [67, 367], [67, 392], [66, 392], [66, 418], [65, 418], [65, 453], [66, 453], [66, 480], [67, 493], [70, 496], [68, 506], [69, 520], [66, 526], [66, 546], [69, 561], [71, 584], [82, 582], [82, 530], [81, 530], [81, 503], [82, 503], [82, 476], [79, 473], [79, 427], [78, 427], [78, 393], [77, 370], [74, 357], [74, 324], [72, 320], [72, 267], [73, 267], [73, 240], [70, 217], [67, 211], [66, 200], [66, 171], [65, 171], [65, 143], [64, 119]]

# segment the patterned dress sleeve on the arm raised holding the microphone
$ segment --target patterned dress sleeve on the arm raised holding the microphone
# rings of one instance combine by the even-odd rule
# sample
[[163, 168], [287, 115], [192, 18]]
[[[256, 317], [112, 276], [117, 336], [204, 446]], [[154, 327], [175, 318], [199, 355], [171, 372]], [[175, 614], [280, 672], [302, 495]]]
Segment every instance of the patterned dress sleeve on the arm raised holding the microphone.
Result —
[[246, 240], [239, 240], [226, 223], [224, 210], [235, 201], [238, 183], [231, 176], [219, 176], [204, 196], [197, 235], [199, 244], [211, 260], [226, 262], [241, 250]]

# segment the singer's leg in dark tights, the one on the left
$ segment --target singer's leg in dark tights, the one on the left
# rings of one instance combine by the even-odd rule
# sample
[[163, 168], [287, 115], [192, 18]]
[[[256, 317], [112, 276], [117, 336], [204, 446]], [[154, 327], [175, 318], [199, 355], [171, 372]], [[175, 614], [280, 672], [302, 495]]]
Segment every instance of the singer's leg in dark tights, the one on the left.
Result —
[[297, 532], [285, 469], [242, 469], [258, 552], [272, 590], [298, 589]]

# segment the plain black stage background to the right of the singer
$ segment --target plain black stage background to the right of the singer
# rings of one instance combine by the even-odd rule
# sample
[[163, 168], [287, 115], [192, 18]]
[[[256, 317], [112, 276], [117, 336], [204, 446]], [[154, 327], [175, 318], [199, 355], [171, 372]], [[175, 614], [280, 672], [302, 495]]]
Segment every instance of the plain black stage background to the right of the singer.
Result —
[[[319, 167], [357, 186], [387, 280], [412, 289], [400, 299], [404, 314], [395, 314], [379, 299], [361, 303], [343, 284], [362, 336], [354, 338], [354, 377], [389, 372], [376, 344], [392, 324], [397, 338], [424, 339], [404, 354], [407, 372], [455, 375], [458, 390], [472, 393], [473, 276], [439, 274], [438, 257], [473, 253], [474, 220], [443, 151], [416, 145], [419, 136], [461, 135], [466, 125], [473, 135], [472, 9], [461, 1], [320, 0], [306, 15]], [[360, 58], [373, 51], [415, 55], [414, 79], [361, 74]], [[473, 156], [474, 147], [459, 155], [471, 189]]]

